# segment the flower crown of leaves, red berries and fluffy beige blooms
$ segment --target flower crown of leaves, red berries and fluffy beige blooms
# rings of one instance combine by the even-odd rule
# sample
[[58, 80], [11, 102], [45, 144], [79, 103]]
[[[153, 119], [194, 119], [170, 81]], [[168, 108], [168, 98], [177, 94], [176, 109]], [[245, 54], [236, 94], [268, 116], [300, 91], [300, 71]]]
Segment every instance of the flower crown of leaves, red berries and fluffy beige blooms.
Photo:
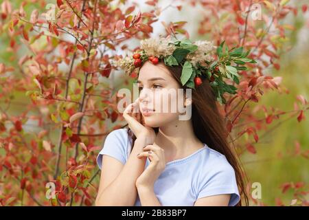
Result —
[[[126, 74], [133, 74], [145, 61], [157, 65], [164, 61], [170, 67], [181, 65], [181, 84], [195, 89], [208, 79], [211, 88], [216, 94], [216, 100], [225, 104], [224, 93], [236, 94], [237, 88], [225, 83], [224, 78], [229, 78], [239, 84], [238, 70], [246, 70], [246, 63], [256, 63], [247, 58], [248, 52], [243, 52], [243, 47], [233, 47], [231, 50], [225, 45], [214, 46], [212, 41], [196, 41], [189, 39], [172, 41], [170, 37], [144, 39], [141, 41], [141, 50], [130, 56], [125, 56], [113, 62], [115, 67], [124, 69]], [[235, 66], [232, 66], [235, 65]]]

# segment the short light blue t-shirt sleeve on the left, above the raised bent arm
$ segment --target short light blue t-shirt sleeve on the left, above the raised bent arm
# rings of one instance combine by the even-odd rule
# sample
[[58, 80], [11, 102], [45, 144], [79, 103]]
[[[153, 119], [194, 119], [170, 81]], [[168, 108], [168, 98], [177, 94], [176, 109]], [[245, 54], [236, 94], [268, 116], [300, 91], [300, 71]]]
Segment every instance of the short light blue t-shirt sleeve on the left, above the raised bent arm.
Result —
[[122, 162], [122, 164], [126, 163], [126, 146], [128, 139], [126, 132], [126, 129], [117, 129], [106, 136], [103, 148], [97, 156], [97, 164], [100, 170], [102, 170], [103, 155], [114, 157], [119, 160], [119, 162]]

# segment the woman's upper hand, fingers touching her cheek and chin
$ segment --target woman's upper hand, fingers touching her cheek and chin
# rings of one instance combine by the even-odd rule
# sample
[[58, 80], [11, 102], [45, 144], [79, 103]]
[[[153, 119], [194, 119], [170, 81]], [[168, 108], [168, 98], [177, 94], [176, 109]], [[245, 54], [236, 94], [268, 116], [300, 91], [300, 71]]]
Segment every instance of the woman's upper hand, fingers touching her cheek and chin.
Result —
[[155, 142], [156, 133], [154, 129], [144, 124], [143, 115], [139, 111], [139, 98], [126, 107], [123, 116], [137, 138], [146, 138], [146, 144]]

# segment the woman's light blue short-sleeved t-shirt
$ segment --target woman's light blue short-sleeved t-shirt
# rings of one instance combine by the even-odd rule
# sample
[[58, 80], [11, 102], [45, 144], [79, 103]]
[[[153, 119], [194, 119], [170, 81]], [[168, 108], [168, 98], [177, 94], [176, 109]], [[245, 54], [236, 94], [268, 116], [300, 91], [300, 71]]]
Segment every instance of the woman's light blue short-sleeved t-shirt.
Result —
[[[99, 168], [102, 169], [102, 155], [109, 155], [125, 164], [131, 146], [128, 129], [109, 133], [97, 157]], [[145, 168], [149, 164], [147, 158]], [[194, 206], [196, 199], [220, 194], [231, 194], [229, 206], [240, 201], [233, 167], [225, 155], [207, 144], [187, 157], [168, 162], [155, 181], [154, 190], [162, 206]], [[135, 206], [141, 206], [138, 195]]]

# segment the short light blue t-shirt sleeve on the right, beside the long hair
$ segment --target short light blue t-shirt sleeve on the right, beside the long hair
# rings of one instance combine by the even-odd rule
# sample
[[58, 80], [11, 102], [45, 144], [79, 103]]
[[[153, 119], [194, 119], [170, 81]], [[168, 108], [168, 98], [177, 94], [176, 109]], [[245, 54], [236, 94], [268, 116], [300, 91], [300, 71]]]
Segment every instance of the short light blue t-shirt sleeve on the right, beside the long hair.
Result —
[[211, 166], [211, 173], [207, 174], [207, 181], [201, 184], [201, 190], [198, 192], [197, 199], [213, 195], [231, 194], [229, 206], [235, 206], [240, 201], [236, 175], [233, 167], [225, 156], [222, 160]]

